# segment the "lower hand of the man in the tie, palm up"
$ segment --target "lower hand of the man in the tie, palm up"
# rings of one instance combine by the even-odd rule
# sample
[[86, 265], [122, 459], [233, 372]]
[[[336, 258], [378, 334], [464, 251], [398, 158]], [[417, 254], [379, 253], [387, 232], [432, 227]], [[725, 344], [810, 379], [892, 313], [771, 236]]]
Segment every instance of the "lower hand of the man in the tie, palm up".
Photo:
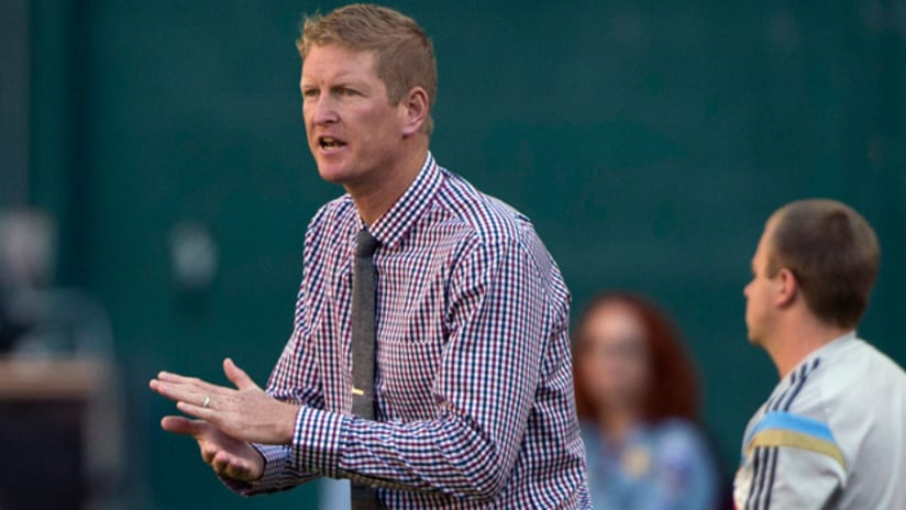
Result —
[[231, 437], [202, 420], [164, 417], [161, 428], [167, 432], [190, 435], [198, 442], [201, 458], [218, 475], [239, 481], [255, 481], [264, 474], [264, 458], [245, 441]]

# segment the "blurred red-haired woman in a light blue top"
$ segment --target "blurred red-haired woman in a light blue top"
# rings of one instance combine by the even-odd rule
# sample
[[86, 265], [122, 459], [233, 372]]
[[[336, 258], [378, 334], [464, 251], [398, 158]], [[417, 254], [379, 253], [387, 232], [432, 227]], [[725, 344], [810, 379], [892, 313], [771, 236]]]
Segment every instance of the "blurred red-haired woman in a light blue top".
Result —
[[667, 318], [639, 296], [600, 295], [579, 317], [574, 350], [595, 508], [717, 508], [695, 370]]

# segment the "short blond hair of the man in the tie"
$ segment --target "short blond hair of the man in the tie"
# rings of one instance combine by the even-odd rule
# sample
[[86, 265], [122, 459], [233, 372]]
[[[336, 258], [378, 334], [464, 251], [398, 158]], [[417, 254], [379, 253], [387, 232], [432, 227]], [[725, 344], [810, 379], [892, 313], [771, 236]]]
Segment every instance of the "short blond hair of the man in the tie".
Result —
[[422, 125], [431, 134], [431, 107], [438, 93], [438, 64], [431, 40], [411, 18], [393, 9], [353, 3], [327, 15], [306, 16], [296, 41], [305, 60], [313, 46], [336, 44], [347, 49], [375, 53], [375, 70], [387, 87], [390, 104], [398, 104], [413, 87], [428, 95], [429, 113]]

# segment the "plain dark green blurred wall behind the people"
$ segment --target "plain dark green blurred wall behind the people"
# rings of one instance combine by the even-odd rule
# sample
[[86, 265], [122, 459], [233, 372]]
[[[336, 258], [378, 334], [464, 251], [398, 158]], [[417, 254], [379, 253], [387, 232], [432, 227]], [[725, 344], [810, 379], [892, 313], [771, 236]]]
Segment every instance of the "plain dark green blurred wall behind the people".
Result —
[[[242, 500], [161, 432], [159, 369], [264, 382], [292, 321], [303, 229], [342, 190], [303, 141], [294, 46], [338, 2], [3, 0], [0, 207], [48, 211], [56, 285], [106, 307], [126, 395], [128, 508]], [[534, 220], [578, 309], [661, 302], [703, 374], [728, 466], [776, 382], [745, 340], [763, 221], [804, 197], [871, 221], [863, 336], [906, 364], [906, 2], [391, 1], [433, 37], [440, 163]], [[16, 49], [20, 48], [20, 49]], [[3, 462], [13, 462], [3, 459]], [[294, 507], [295, 506], [295, 507]]]

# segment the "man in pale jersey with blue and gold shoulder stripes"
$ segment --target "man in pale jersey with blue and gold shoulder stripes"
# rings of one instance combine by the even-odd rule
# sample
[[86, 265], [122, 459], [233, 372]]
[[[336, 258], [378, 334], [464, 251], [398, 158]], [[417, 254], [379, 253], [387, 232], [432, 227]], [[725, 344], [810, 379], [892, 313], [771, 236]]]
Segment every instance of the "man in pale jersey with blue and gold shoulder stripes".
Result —
[[855, 333], [879, 259], [872, 228], [840, 202], [767, 220], [745, 325], [781, 382], [745, 430], [737, 508], [906, 508], [906, 374]]

